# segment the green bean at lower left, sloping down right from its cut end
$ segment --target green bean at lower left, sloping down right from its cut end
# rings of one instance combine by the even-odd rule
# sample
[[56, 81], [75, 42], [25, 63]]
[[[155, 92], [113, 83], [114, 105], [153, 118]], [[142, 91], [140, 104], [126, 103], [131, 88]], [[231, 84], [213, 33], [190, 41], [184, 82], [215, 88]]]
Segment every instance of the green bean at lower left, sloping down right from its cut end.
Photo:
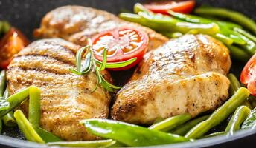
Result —
[[41, 144], [45, 143], [45, 141], [43, 141], [42, 138], [36, 133], [35, 129], [33, 129], [32, 124], [29, 123], [28, 119], [25, 117], [21, 110], [16, 110], [14, 112], [14, 118], [17, 121], [19, 129], [22, 131], [28, 141]]

